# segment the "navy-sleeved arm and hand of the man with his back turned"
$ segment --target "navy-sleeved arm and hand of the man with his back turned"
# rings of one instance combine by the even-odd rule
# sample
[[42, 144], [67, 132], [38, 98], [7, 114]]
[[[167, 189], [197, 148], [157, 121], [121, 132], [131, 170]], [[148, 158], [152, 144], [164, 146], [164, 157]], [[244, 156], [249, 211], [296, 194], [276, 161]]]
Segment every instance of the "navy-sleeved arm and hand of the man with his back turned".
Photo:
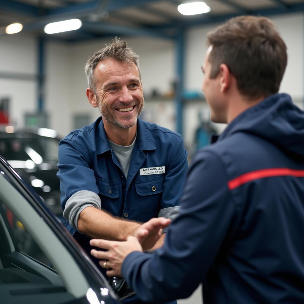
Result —
[[229, 228], [235, 212], [223, 165], [204, 151], [192, 164], [180, 214], [162, 248], [144, 254], [139, 242], [128, 237], [125, 242], [103, 240], [97, 246], [108, 251], [92, 254], [108, 260], [108, 274], [122, 275], [142, 301], [186, 298], [202, 282], [228, 231], [233, 231]]

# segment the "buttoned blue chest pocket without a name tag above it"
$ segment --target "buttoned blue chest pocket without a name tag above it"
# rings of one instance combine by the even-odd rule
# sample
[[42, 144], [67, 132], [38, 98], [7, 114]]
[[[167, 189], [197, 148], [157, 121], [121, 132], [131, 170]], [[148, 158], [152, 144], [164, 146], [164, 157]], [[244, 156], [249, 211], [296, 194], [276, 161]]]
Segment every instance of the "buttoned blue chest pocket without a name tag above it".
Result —
[[114, 216], [119, 216], [119, 185], [111, 184], [99, 178], [96, 178], [96, 185], [101, 200], [101, 209]]

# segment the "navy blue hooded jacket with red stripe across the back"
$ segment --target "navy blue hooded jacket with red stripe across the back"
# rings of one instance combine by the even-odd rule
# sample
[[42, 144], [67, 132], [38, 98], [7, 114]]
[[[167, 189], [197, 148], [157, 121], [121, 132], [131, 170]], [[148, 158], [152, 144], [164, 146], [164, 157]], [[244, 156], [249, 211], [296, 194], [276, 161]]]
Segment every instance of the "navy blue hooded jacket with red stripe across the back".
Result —
[[179, 216], [122, 273], [140, 299], [304, 303], [304, 112], [275, 94], [195, 155]]

